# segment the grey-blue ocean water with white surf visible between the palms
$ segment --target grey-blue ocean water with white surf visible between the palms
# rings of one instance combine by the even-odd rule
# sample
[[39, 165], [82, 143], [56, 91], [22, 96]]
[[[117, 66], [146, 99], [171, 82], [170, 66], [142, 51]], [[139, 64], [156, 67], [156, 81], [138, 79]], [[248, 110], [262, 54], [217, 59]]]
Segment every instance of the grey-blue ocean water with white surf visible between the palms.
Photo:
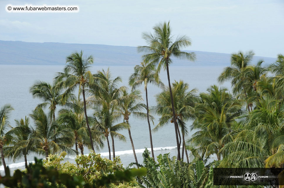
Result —
[[[133, 73], [133, 66], [96, 66], [93, 65], [91, 71], [95, 73], [97, 70], [107, 70], [110, 71], [113, 77], [121, 76], [123, 82], [121, 85], [128, 86], [128, 78]], [[29, 88], [34, 84], [36, 80], [52, 82], [53, 77], [56, 72], [60, 72], [63, 66], [61, 65], [0, 65], [0, 106], [9, 103], [15, 109], [10, 116], [10, 124], [15, 126], [14, 119], [24, 118], [28, 116], [33, 109], [41, 101], [39, 99], [33, 99], [33, 96], [29, 93]], [[170, 66], [170, 79], [171, 82], [174, 80], [184, 80], [189, 84], [190, 90], [197, 88], [199, 92], [206, 92], [206, 89], [212, 84], [217, 83], [217, 77], [222, 72], [224, 67], [221, 66]], [[168, 84], [167, 75], [165, 72], [160, 74], [161, 80]], [[230, 88], [230, 83], [225, 82], [224, 87]], [[142, 96], [145, 99], [145, 92], [143, 91], [143, 86], [141, 86]], [[160, 92], [160, 89], [153, 85], [148, 86], [148, 100], [149, 106], [155, 105], [155, 94]], [[60, 108], [58, 106], [58, 108]], [[57, 109], [58, 110], [58, 109]], [[92, 113], [89, 111], [88, 113]], [[158, 116], [155, 115], [155, 124], [151, 125], [152, 128], [158, 123]], [[142, 163], [142, 153], [144, 148], [150, 147], [149, 141], [149, 131], [147, 121], [142, 121], [130, 117], [129, 123], [131, 125], [131, 136], [133, 138], [136, 155], [138, 162]], [[31, 125], [33, 121], [31, 120]], [[187, 122], [187, 126], [190, 126], [191, 122]], [[120, 132], [126, 136], [127, 141], [121, 142], [115, 140], [115, 151], [116, 156], [120, 156], [121, 162], [124, 166], [134, 161], [133, 152], [131, 144], [129, 142], [128, 131], [123, 130]], [[194, 131], [189, 132], [187, 138], [194, 133]], [[160, 153], [170, 153], [171, 156], [176, 155], [176, 141], [175, 141], [175, 131], [173, 124], [169, 124], [158, 132], [152, 133], [153, 137], [153, 147], [154, 154], [158, 156]], [[150, 149], [149, 149], [150, 150]], [[96, 151], [101, 153], [103, 157], [108, 158], [107, 143], [105, 147]], [[84, 153], [87, 154], [89, 151], [87, 148], [84, 149]], [[29, 155], [28, 161], [33, 162], [34, 157], [44, 158], [44, 156]], [[67, 156], [65, 160], [74, 162], [74, 156]], [[9, 166], [11, 171], [16, 168], [24, 168], [24, 160], [17, 159], [12, 161], [10, 159], [5, 159], [6, 164]], [[3, 173], [3, 166], [0, 166], [0, 172]]]

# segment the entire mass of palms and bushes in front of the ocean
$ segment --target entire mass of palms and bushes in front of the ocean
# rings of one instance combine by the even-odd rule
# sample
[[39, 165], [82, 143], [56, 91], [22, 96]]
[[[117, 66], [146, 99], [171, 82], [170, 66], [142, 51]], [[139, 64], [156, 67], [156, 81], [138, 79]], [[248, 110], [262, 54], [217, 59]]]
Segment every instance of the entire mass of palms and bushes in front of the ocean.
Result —
[[[268, 65], [255, 62], [253, 51], [233, 53], [231, 65], [218, 77], [219, 85], [198, 93], [183, 80], [170, 80], [175, 58], [195, 59], [194, 53], [182, 51], [191, 45], [190, 38], [174, 38], [172, 33], [169, 22], [143, 33], [147, 46], [138, 46], [142, 62], [134, 67], [129, 86], [122, 85], [120, 76], [112, 77], [109, 69], [93, 73], [93, 56], [75, 51], [52, 83], [36, 81], [30, 88], [42, 102], [26, 117], [13, 123], [12, 106], [1, 106], [0, 154], [6, 176], [0, 182], [8, 187], [209, 188], [216, 187], [213, 168], [283, 167], [283, 54]], [[167, 86], [160, 79], [162, 68]], [[231, 90], [221, 86], [226, 81]], [[149, 84], [158, 91], [155, 104], [148, 101]], [[147, 126], [147, 137], [149, 131], [145, 143], [151, 151], [145, 149], [143, 163], [131, 134], [137, 126], [131, 123], [134, 118]], [[152, 133], [167, 125], [173, 127], [177, 156], [155, 157]], [[128, 139], [132, 170], [115, 155], [115, 142]], [[108, 159], [95, 153], [105, 146]], [[27, 157], [35, 154], [45, 159], [28, 164]], [[67, 155], [75, 158], [74, 164], [64, 161]], [[10, 176], [5, 160], [21, 158], [26, 170]]]

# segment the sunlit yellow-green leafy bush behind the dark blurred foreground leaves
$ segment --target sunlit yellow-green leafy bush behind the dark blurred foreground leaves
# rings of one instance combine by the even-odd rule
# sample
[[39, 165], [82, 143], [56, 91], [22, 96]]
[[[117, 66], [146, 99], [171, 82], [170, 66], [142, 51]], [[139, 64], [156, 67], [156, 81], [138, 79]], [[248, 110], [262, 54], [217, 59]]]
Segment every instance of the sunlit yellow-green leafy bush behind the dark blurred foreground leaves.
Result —
[[[77, 156], [73, 164], [70, 162], [61, 163], [67, 153], [63, 152], [58, 155], [50, 155], [47, 161], [44, 161], [44, 167], [54, 167], [62, 173], [67, 173], [71, 176], [78, 175], [83, 177], [87, 184], [95, 184], [96, 186], [103, 186], [104, 184], [111, 184], [110, 186], [119, 185], [121, 187], [136, 185], [132, 178], [143, 175], [145, 169], [129, 169], [125, 170], [118, 157], [111, 161], [107, 158], [102, 158], [100, 154], [89, 153], [88, 155]], [[125, 182], [124, 182], [125, 181]], [[129, 183], [126, 183], [129, 182]]]

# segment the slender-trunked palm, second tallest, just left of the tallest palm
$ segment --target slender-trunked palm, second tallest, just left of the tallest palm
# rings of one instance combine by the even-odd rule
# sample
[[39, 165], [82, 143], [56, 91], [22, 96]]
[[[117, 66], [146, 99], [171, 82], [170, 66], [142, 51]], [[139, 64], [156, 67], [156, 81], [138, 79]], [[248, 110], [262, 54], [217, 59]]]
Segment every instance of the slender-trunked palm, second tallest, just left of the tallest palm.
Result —
[[136, 65], [134, 67], [134, 73], [129, 77], [129, 85], [132, 87], [132, 90], [139, 87], [141, 84], [144, 84], [144, 90], [146, 93], [146, 106], [147, 106], [147, 121], [149, 127], [149, 135], [150, 135], [150, 145], [151, 145], [151, 153], [152, 158], [155, 161], [154, 150], [153, 150], [153, 142], [152, 142], [152, 133], [151, 133], [151, 125], [149, 118], [149, 104], [148, 104], [148, 84], [154, 84], [155, 86], [164, 88], [164, 84], [160, 79], [156, 81], [155, 79], [155, 66], [153, 64], [146, 65], [145, 62], [141, 62], [141, 65]]

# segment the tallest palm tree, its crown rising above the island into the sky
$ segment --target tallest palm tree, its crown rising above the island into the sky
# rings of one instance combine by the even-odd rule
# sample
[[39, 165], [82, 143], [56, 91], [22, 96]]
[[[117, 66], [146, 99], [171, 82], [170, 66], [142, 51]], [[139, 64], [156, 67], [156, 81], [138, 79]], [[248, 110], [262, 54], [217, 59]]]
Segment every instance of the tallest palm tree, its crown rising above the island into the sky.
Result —
[[[173, 116], [175, 117], [175, 107], [171, 89], [169, 65], [173, 63], [172, 57], [193, 61], [195, 59], [195, 54], [181, 51], [182, 48], [191, 45], [190, 38], [183, 35], [177, 37], [174, 41], [172, 30], [170, 28], [170, 22], [160, 23], [153, 27], [153, 29], [154, 34], [143, 33], [143, 39], [146, 40], [149, 46], [138, 46], [138, 51], [146, 53], [145, 55], [143, 55], [143, 59], [146, 63], [157, 65], [156, 78], [162, 67], [167, 70], [171, 106], [173, 110]], [[175, 119], [174, 125], [175, 137], [177, 141], [177, 160], [180, 160], [180, 145], [177, 131], [178, 125]]]

